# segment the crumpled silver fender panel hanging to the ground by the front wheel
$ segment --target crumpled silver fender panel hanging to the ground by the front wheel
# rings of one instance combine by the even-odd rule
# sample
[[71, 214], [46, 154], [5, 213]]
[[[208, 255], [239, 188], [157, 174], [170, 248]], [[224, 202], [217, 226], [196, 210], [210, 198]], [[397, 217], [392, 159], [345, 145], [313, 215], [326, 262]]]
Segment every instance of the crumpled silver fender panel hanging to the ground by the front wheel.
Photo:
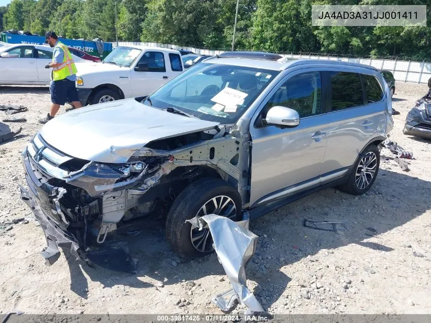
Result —
[[187, 220], [200, 231], [211, 233], [219, 262], [226, 272], [232, 289], [214, 297], [214, 304], [224, 312], [231, 311], [239, 302], [250, 313], [264, 312], [255, 295], [247, 288], [245, 267], [256, 251], [258, 236], [246, 229], [248, 213], [243, 221], [234, 222], [216, 214]]

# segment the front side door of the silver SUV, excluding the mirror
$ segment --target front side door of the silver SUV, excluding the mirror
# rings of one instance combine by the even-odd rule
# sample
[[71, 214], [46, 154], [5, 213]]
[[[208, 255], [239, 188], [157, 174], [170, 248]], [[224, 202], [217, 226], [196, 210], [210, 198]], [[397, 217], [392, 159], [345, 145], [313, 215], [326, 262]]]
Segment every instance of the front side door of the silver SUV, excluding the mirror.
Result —
[[[323, 93], [320, 71], [293, 71], [270, 92], [252, 118], [251, 207], [319, 184], [326, 148]], [[266, 113], [274, 106], [296, 110], [299, 125], [265, 125]]]

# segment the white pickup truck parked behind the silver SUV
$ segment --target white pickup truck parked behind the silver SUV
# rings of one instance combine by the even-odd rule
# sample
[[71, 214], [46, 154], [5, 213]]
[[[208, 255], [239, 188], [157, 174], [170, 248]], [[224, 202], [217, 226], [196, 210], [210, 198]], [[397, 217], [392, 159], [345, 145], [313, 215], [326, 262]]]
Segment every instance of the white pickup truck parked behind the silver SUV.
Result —
[[119, 46], [102, 63], [81, 63], [78, 96], [83, 106], [147, 95], [184, 70], [174, 49]]

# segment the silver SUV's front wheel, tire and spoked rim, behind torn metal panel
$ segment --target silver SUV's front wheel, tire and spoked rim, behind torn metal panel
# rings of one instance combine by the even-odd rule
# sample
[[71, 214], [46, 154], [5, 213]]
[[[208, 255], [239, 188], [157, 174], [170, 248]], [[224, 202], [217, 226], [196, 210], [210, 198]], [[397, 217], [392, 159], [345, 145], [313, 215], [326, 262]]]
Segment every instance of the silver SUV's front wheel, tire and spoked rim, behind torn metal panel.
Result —
[[218, 214], [241, 220], [238, 190], [216, 178], [200, 179], [186, 187], [176, 198], [166, 218], [166, 238], [173, 251], [185, 259], [203, 257], [214, 251], [209, 229], [192, 228], [189, 220], [205, 214]]

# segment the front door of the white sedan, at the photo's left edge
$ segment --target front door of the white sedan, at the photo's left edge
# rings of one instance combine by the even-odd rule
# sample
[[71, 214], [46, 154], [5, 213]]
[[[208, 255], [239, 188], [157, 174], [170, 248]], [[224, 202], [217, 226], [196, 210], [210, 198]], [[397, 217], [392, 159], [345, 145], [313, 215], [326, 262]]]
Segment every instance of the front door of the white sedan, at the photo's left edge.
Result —
[[8, 49], [8, 57], [0, 58], [0, 81], [3, 84], [32, 84], [37, 82], [34, 46], [18, 46]]

